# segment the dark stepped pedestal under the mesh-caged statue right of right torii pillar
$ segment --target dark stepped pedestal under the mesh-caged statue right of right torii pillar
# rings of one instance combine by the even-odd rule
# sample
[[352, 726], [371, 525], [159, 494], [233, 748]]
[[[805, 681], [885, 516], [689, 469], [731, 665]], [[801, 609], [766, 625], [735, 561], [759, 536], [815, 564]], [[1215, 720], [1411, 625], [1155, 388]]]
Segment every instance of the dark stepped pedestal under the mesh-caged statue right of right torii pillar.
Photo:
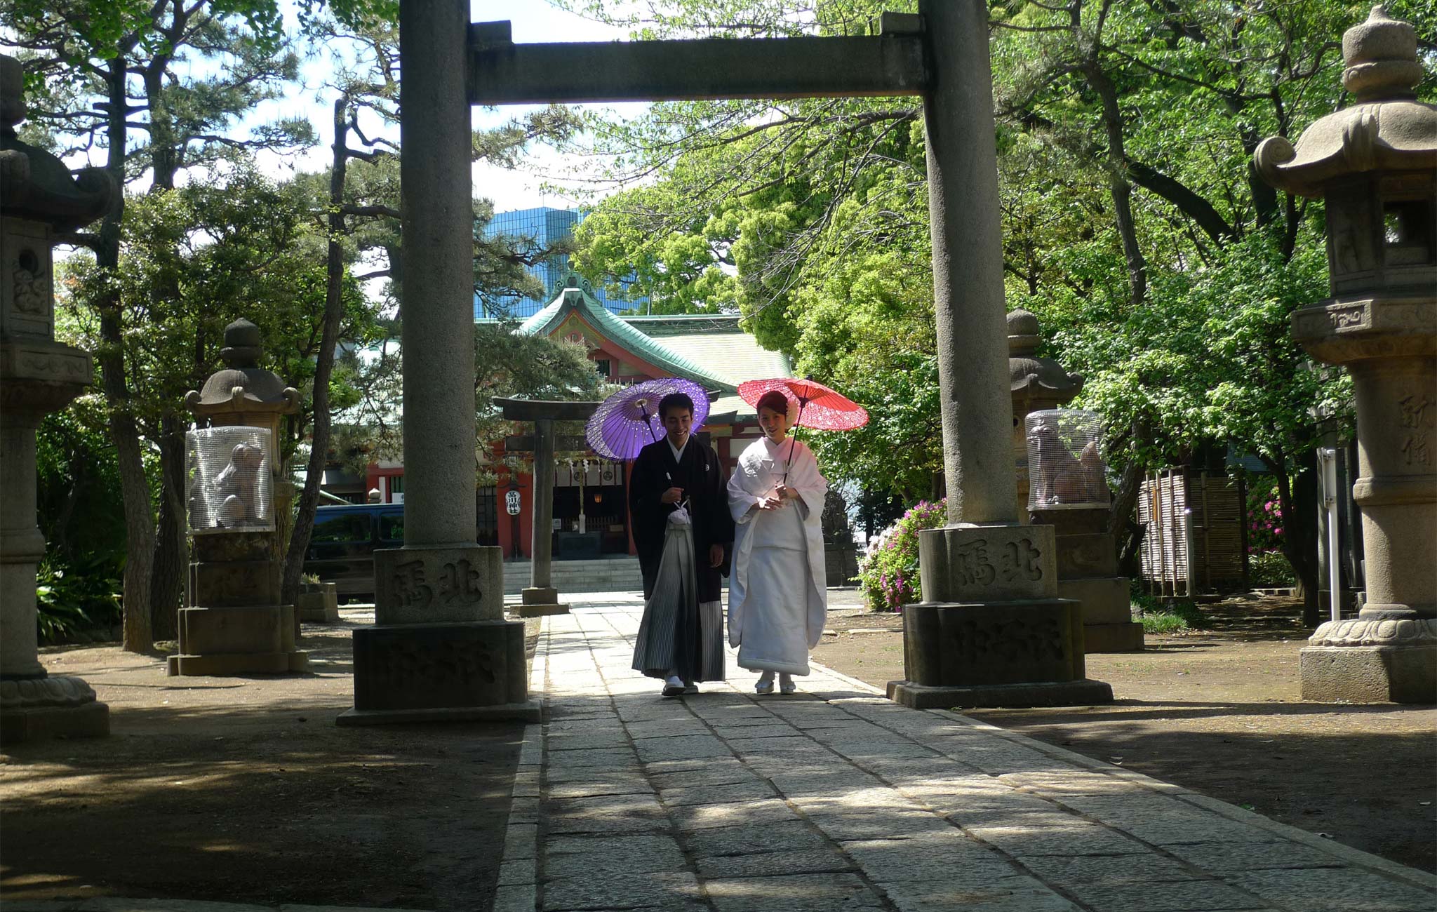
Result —
[[1128, 577], [1108, 534], [1108, 510], [1036, 510], [1033, 523], [1052, 526], [1058, 595], [1081, 605], [1085, 652], [1142, 649], [1142, 625], [1132, 620]]

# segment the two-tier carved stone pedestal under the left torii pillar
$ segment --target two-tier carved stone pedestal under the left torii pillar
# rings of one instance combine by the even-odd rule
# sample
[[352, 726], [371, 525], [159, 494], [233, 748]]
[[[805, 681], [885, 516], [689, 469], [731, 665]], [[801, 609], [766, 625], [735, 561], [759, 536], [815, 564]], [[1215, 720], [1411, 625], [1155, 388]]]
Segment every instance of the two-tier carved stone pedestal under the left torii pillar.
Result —
[[502, 549], [382, 549], [374, 577], [375, 626], [355, 631], [355, 705], [339, 725], [539, 721], [525, 625], [504, 620]]

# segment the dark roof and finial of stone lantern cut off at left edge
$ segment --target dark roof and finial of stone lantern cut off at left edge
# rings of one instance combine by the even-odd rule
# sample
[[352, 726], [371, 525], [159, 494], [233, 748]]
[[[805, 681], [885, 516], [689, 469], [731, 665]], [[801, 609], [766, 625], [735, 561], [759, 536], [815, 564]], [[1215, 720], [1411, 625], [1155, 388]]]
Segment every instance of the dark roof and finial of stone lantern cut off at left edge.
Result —
[[24, 119], [24, 70], [0, 55], [0, 215], [47, 223], [70, 231], [95, 221], [119, 200], [115, 178], [103, 168], [70, 175], [55, 155], [22, 142], [14, 126]]

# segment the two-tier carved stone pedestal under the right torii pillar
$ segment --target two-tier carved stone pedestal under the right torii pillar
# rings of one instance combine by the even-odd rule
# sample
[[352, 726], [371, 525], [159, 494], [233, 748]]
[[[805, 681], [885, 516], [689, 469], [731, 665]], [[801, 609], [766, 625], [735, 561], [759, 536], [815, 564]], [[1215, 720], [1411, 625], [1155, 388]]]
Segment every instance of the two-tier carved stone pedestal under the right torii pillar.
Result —
[[1079, 603], [1058, 597], [1052, 526], [950, 526], [920, 533], [927, 599], [904, 608], [904, 681], [918, 709], [1111, 702], [1085, 678]]

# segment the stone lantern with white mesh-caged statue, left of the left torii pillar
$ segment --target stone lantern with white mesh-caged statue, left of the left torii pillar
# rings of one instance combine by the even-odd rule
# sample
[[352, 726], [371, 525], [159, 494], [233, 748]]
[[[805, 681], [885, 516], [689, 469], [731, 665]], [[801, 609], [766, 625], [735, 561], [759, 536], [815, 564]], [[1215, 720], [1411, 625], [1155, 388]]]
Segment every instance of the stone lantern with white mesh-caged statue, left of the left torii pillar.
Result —
[[[295, 606], [280, 605], [285, 553], [274, 517], [286, 516], [280, 417], [299, 411], [299, 392], [259, 366], [260, 329], [224, 327], [226, 366], [191, 391], [190, 605], [180, 609], [180, 651], [171, 675], [306, 671], [296, 649]], [[205, 427], [208, 425], [208, 427]]]

